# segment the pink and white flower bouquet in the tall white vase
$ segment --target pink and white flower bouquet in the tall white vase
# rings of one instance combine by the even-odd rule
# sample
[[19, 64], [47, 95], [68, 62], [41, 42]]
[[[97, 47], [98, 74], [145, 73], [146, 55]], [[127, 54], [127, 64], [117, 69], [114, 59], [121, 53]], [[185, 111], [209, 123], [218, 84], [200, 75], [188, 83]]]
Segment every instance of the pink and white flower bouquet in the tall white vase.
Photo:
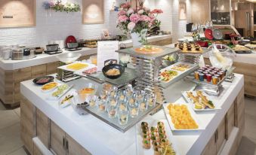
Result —
[[[131, 8], [131, 4], [127, 2], [120, 5], [116, 27], [121, 29], [125, 35], [128, 33], [139, 33], [141, 37], [141, 32], [144, 32], [145, 29], [151, 29], [156, 25], [160, 25], [161, 22], [156, 17], [162, 13], [163, 11], [160, 9], [150, 11], [149, 8], [144, 8], [143, 4], [140, 4], [137, 8]], [[141, 42], [147, 44], [147, 39], [141, 38]]]

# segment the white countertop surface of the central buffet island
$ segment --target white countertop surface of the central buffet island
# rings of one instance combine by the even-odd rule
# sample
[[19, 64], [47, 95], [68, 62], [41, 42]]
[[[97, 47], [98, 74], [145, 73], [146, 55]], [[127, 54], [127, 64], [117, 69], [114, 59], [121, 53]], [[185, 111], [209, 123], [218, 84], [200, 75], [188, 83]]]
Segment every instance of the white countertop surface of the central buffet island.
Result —
[[[72, 84], [85, 84], [85, 78], [72, 81]], [[173, 132], [174, 141], [180, 154], [199, 154], [208, 143], [211, 136], [217, 129], [218, 124], [224, 118], [239, 91], [244, 85], [242, 74], [236, 74], [233, 83], [224, 82], [224, 92], [217, 98], [221, 110], [196, 114], [198, 120], [205, 124], [206, 129], [197, 132]], [[51, 120], [57, 123], [61, 129], [74, 138], [79, 144], [85, 147], [92, 154], [136, 154], [136, 133], [135, 127], [122, 133], [112, 126], [88, 114], [80, 116], [71, 106], [59, 108], [58, 103], [46, 100], [47, 94], [42, 93], [41, 87], [32, 84], [32, 81], [23, 81], [20, 90], [23, 96], [29, 99], [37, 108], [45, 113]], [[180, 82], [180, 88], [186, 90], [187, 85]], [[177, 102], [184, 103], [181, 98]], [[161, 110], [145, 120], [162, 120], [165, 114]]]

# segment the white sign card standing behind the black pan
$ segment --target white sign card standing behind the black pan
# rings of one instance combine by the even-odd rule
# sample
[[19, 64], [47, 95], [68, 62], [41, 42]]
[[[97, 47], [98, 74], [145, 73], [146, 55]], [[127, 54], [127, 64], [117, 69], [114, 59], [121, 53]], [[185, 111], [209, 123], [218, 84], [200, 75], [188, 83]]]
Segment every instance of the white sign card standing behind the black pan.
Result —
[[101, 71], [109, 63], [119, 62], [119, 41], [98, 41], [97, 42], [97, 70]]

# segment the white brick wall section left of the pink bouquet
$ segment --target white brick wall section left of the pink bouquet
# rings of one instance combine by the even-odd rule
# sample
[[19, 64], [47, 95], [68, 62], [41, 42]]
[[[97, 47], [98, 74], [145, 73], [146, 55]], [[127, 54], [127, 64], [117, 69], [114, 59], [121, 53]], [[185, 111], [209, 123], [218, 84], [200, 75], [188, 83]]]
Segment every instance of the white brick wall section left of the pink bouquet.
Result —
[[[100, 37], [101, 29], [109, 28], [109, 8], [112, 0], [105, 1], [104, 24], [82, 25], [82, 12], [69, 13], [45, 11], [36, 0], [36, 26], [32, 28], [0, 29], [0, 45], [26, 44], [45, 45], [50, 40], [65, 40], [68, 35], [76, 38]], [[82, 0], [69, 0], [82, 6]]]

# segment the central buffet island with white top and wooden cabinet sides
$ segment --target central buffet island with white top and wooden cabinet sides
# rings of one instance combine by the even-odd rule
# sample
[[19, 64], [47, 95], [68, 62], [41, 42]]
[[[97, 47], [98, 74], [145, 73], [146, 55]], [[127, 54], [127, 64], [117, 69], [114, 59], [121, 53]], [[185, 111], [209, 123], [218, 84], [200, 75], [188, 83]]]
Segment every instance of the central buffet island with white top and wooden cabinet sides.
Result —
[[[235, 75], [233, 83], [223, 83], [224, 91], [217, 98], [221, 109], [196, 114], [205, 129], [173, 132], [179, 154], [233, 154], [236, 151], [244, 129], [244, 78], [242, 74]], [[75, 84], [76, 89], [76, 86], [86, 82], [87, 79], [80, 78], [67, 84]], [[166, 100], [185, 103], [180, 91], [193, 87], [190, 82], [177, 81], [165, 90]], [[135, 126], [123, 133], [91, 114], [77, 114], [71, 106], [60, 108], [58, 102], [48, 101], [41, 87], [35, 86], [31, 80], [23, 81], [20, 91], [23, 95], [21, 137], [31, 154], [35, 150], [42, 153], [54, 150], [57, 154], [64, 154], [63, 136], [69, 141], [69, 154], [73, 149], [79, 154], [137, 154]], [[166, 120], [166, 117], [160, 110], [144, 120]], [[32, 138], [40, 141], [33, 141]]]

